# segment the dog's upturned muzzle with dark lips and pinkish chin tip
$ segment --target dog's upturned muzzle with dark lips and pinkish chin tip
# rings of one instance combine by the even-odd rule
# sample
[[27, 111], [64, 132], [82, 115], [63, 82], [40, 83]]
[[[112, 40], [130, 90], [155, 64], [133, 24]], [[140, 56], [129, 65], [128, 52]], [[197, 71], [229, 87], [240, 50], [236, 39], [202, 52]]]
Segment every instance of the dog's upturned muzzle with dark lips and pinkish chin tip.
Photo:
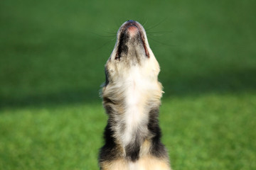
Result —
[[143, 27], [137, 21], [129, 20], [124, 23], [119, 28], [117, 53], [114, 59], [120, 60], [122, 57], [142, 55], [149, 57], [145, 36]]

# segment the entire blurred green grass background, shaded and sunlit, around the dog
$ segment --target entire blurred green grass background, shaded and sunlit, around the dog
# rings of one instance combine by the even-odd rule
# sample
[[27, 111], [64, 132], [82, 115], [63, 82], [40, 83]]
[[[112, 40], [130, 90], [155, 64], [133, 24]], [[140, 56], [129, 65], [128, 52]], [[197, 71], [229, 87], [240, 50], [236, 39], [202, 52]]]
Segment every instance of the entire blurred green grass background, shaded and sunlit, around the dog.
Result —
[[161, 66], [174, 169], [256, 169], [255, 1], [0, 1], [0, 169], [98, 169], [115, 33]]

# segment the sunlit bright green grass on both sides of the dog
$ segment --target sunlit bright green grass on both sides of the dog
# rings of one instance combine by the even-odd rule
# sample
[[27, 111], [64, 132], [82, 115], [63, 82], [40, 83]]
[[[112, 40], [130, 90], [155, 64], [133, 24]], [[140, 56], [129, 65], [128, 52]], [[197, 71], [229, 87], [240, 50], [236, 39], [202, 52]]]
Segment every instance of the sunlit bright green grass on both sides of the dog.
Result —
[[[163, 142], [174, 169], [255, 169], [256, 96], [166, 98]], [[4, 109], [1, 169], [97, 169], [99, 104]]]

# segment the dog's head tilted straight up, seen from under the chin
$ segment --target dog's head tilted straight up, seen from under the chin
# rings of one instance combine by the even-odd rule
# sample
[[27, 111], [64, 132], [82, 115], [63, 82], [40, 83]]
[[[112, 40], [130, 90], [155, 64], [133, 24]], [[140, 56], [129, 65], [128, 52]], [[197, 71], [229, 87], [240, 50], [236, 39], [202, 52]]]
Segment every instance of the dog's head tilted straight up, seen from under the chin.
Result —
[[105, 65], [107, 84], [117, 84], [137, 72], [144, 79], [158, 81], [159, 64], [149, 47], [146, 32], [137, 21], [129, 20], [117, 32], [117, 42]]

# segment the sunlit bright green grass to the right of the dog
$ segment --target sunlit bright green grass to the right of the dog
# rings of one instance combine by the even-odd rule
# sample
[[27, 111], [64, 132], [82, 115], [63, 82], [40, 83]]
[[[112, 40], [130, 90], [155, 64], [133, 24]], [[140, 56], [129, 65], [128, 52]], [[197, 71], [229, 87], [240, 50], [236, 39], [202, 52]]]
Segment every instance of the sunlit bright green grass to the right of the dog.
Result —
[[250, 94], [164, 101], [161, 125], [174, 169], [255, 169], [255, 106]]

